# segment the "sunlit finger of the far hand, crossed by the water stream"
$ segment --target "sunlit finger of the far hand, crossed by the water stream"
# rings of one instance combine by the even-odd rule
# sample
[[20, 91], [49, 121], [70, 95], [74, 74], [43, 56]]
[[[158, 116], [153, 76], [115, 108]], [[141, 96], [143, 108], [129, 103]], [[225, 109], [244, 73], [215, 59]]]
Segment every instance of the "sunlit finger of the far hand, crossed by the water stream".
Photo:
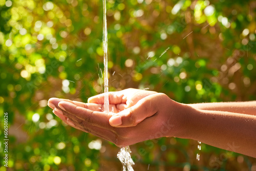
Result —
[[109, 95], [110, 104], [126, 103], [126, 96], [123, 94], [123, 91], [102, 93], [102, 94], [90, 97], [88, 99], [88, 103], [104, 104], [105, 94]]

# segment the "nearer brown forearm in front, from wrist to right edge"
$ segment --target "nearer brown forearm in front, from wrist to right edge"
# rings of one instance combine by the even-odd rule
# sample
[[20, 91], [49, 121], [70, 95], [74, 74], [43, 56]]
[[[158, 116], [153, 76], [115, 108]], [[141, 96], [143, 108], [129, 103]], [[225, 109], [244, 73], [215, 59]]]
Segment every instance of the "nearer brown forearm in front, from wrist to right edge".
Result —
[[203, 143], [256, 157], [256, 116], [190, 108], [184, 135]]

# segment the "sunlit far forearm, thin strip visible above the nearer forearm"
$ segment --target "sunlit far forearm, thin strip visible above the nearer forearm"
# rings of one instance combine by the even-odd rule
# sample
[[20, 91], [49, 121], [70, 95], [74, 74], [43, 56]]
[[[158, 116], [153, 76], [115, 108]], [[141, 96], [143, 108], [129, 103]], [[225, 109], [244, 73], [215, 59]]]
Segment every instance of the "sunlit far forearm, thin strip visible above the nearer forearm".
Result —
[[256, 116], [256, 101], [196, 103], [189, 106], [207, 111], [225, 111]]

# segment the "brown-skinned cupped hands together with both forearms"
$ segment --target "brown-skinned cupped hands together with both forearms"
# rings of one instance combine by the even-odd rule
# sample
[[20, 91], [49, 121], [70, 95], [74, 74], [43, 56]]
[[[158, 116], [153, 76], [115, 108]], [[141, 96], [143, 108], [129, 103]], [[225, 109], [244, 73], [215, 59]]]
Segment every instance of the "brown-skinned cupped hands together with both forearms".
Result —
[[102, 110], [104, 94], [88, 103], [51, 98], [48, 105], [67, 124], [117, 146], [179, 137], [256, 157], [255, 101], [182, 104], [163, 93], [138, 89], [109, 92], [109, 100], [109, 114]]

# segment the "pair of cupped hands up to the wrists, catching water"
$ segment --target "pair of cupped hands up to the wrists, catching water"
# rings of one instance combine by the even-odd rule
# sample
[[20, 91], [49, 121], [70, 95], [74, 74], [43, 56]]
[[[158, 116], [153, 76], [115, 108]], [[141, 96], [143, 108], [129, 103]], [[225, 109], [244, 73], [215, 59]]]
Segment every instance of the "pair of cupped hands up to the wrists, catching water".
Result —
[[51, 98], [49, 106], [67, 124], [109, 140], [117, 146], [164, 136], [177, 136], [185, 105], [163, 93], [126, 89], [109, 92], [110, 113], [103, 109], [104, 94], [89, 103]]

